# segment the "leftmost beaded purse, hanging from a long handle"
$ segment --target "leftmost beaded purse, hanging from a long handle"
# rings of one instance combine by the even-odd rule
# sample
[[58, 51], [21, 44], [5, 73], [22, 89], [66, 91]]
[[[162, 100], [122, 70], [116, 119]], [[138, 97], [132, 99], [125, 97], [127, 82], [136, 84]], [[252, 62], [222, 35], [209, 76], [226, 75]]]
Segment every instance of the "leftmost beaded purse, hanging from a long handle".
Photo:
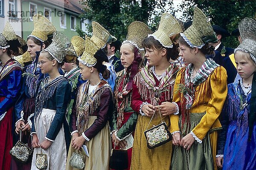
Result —
[[14, 147], [12, 147], [9, 153], [18, 161], [26, 163], [29, 159], [29, 156], [33, 152], [33, 149], [28, 147], [27, 144], [21, 142], [21, 133], [22, 130], [20, 130], [20, 140], [15, 144]]

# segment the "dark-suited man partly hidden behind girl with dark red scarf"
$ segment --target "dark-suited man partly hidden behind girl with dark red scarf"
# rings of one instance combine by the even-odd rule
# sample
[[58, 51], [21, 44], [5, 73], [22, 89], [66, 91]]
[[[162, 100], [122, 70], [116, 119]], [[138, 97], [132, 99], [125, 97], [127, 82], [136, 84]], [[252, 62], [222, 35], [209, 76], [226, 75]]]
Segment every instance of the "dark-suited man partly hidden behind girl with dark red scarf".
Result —
[[114, 42], [108, 43], [108, 61], [115, 67], [116, 73], [123, 70], [124, 67], [122, 66], [121, 60], [115, 56], [117, 50], [120, 50], [121, 42], [116, 40]]

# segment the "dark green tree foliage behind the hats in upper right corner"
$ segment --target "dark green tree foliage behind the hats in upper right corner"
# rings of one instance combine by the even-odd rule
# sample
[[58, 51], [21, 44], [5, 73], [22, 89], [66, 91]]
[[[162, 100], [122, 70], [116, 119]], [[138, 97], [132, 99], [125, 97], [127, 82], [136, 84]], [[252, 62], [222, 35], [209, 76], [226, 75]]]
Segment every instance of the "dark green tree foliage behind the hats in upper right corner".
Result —
[[[229, 32], [238, 28], [239, 22], [245, 17], [254, 17], [256, 1], [254, 0], [190, 0], [183, 1], [183, 21], [192, 20], [194, 7], [202, 9], [211, 19], [211, 23], [221, 26]], [[236, 48], [239, 45], [237, 37], [226, 37], [223, 40], [227, 47]]]

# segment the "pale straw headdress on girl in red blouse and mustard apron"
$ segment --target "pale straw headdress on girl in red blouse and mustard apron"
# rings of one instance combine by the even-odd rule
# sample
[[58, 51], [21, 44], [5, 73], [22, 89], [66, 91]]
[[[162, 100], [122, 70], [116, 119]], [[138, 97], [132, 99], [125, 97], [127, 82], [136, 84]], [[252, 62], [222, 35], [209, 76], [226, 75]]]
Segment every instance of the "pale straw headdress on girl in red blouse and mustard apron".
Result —
[[160, 24], [153, 34], [149, 34], [148, 37], [154, 37], [164, 47], [172, 48], [172, 37], [175, 34], [182, 32], [179, 22], [169, 13], [163, 13], [161, 16]]

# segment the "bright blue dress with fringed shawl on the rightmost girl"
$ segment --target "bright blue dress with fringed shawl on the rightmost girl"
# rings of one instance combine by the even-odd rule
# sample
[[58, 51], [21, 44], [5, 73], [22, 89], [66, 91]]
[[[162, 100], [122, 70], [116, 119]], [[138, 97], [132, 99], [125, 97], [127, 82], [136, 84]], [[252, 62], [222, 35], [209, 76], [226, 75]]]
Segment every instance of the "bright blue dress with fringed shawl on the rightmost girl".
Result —
[[251, 91], [244, 93], [241, 79], [228, 85], [226, 104], [221, 113], [223, 130], [218, 134], [218, 155], [224, 154], [223, 170], [256, 169], [256, 123], [248, 140], [248, 114]]

